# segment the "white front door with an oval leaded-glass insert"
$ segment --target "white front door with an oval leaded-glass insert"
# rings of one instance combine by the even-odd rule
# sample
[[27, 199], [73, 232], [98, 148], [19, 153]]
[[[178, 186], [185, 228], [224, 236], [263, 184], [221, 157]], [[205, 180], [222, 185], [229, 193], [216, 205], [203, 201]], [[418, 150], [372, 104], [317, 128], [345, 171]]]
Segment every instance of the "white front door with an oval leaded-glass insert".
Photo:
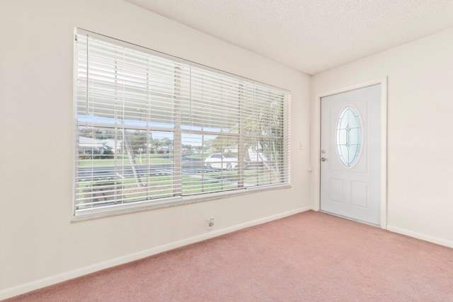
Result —
[[381, 223], [381, 84], [321, 98], [321, 211]]

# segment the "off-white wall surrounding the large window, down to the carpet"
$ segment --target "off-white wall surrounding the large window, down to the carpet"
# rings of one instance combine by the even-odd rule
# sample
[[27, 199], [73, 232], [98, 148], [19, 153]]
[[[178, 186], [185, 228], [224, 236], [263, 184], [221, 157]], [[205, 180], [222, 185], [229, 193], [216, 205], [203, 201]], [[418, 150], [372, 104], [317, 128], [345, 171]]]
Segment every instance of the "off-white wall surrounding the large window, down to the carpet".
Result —
[[[291, 91], [292, 188], [71, 223], [74, 27]], [[311, 207], [306, 74], [122, 0], [1, 0], [0, 39], [0, 299]]]

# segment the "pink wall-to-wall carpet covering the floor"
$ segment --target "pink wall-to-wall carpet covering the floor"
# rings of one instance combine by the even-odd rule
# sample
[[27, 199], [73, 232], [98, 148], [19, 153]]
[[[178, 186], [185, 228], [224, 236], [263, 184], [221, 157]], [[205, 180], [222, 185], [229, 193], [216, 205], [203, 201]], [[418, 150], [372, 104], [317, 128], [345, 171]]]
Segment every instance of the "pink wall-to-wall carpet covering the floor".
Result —
[[453, 301], [453, 249], [306, 211], [6, 301]]

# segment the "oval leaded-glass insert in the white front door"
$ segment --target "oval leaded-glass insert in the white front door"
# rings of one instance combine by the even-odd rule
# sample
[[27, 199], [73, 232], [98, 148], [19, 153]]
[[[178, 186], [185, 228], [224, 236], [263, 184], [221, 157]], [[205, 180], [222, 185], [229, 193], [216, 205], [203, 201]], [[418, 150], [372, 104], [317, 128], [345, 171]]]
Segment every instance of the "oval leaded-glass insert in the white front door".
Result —
[[337, 151], [340, 161], [346, 167], [357, 163], [362, 150], [362, 121], [351, 106], [346, 106], [337, 122]]

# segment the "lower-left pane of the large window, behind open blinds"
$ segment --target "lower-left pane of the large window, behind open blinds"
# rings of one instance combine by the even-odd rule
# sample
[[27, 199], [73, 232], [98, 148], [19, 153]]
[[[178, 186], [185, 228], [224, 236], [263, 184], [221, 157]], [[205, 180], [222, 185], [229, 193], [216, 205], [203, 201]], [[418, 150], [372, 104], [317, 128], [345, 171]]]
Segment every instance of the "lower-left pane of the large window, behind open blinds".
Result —
[[173, 196], [173, 134], [79, 127], [78, 209]]

